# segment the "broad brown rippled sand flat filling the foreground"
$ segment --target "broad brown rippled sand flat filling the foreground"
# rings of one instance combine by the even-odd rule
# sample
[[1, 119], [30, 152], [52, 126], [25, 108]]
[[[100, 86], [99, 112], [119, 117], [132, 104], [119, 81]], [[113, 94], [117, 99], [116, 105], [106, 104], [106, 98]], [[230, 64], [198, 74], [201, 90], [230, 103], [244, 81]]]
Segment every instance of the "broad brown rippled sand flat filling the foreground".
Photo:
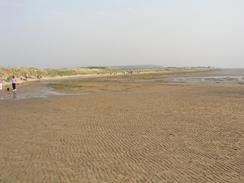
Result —
[[0, 183], [244, 182], [242, 85], [0, 102]]

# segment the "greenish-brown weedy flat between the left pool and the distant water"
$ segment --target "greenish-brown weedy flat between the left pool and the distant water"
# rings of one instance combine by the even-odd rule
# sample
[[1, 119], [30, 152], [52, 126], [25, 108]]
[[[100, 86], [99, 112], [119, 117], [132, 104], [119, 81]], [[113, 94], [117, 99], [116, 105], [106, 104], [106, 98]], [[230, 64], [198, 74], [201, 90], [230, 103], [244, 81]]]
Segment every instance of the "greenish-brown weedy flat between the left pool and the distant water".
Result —
[[144, 74], [117, 75], [113, 77], [96, 77], [73, 80], [63, 80], [51, 83], [48, 86], [57, 90], [71, 92], [96, 92], [96, 91], [124, 91], [132, 88], [150, 87], [166, 84], [162, 77], [172, 73], [189, 73], [207, 71], [207, 68], [150, 68], [143, 69]]

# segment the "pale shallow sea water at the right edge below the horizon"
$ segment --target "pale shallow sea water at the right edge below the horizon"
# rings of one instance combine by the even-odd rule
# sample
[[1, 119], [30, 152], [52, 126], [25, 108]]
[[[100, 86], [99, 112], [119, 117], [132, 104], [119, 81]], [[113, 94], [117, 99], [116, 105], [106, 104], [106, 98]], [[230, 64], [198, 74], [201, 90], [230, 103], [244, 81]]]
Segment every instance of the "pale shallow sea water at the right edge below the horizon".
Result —
[[222, 69], [204, 73], [175, 75], [167, 81], [179, 83], [239, 83], [244, 84], [244, 69]]

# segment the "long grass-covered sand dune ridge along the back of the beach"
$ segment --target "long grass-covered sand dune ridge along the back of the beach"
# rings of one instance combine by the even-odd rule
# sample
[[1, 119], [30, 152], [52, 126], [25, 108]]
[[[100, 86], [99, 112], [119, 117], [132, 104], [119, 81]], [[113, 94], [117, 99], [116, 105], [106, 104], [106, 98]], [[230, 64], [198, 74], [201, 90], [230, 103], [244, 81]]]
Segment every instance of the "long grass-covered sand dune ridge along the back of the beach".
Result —
[[133, 75], [138, 74], [170, 74], [170, 73], [184, 73], [184, 72], [199, 72], [207, 71], [206, 67], [76, 67], [76, 68], [60, 68], [60, 69], [41, 69], [41, 68], [27, 68], [27, 67], [0, 67], [0, 76], [6, 82], [14, 75], [17, 79], [35, 80], [40, 78], [57, 78], [67, 76], [79, 75], [124, 75], [125, 72], [132, 71]]

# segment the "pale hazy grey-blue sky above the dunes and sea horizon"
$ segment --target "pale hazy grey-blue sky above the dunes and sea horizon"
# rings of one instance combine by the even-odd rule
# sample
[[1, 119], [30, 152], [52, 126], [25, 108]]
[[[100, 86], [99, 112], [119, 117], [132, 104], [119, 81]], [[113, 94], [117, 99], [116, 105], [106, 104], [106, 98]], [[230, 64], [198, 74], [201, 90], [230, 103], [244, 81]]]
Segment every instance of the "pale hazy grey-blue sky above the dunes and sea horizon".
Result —
[[243, 0], [0, 0], [0, 66], [244, 67]]

